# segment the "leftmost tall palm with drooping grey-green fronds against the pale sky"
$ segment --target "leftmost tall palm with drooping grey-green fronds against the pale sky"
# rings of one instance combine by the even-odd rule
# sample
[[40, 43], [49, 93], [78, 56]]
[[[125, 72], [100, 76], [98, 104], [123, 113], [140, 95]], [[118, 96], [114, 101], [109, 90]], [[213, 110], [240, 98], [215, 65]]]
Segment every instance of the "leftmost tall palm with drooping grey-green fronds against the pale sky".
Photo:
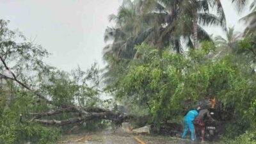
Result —
[[117, 15], [109, 15], [109, 21], [115, 21], [114, 28], [107, 28], [104, 41], [111, 42], [103, 49], [104, 60], [108, 65], [104, 68], [105, 83], [113, 84], [126, 64], [134, 58], [134, 46], [147, 38], [151, 29], [139, 22], [140, 0], [125, 0], [118, 9]]

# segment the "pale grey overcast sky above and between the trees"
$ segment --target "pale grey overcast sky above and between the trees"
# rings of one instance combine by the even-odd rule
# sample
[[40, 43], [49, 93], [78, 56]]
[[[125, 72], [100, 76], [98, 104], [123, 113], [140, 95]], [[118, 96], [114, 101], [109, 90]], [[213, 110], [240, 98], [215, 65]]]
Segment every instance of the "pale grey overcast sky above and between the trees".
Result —
[[[231, 0], [221, 0], [227, 26], [244, 28], [237, 20]], [[102, 67], [103, 35], [108, 15], [116, 13], [122, 0], [0, 0], [0, 19], [10, 20], [10, 29], [19, 29], [27, 38], [51, 52], [47, 63], [62, 70], [79, 65], [83, 70], [97, 61]], [[112, 24], [113, 25], [113, 24]], [[220, 28], [206, 28], [223, 35]]]

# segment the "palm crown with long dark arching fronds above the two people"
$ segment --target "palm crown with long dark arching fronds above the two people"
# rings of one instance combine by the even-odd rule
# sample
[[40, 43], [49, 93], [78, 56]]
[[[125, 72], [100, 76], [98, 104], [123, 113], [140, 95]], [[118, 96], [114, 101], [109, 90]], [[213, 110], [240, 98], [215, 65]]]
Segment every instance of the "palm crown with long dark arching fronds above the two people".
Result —
[[[150, 3], [149, 1], [148, 3]], [[166, 34], [171, 34], [171, 44], [179, 52], [177, 43], [180, 43], [180, 37], [183, 36], [189, 40], [189, 47], [198, 47], [198, 40], [211, 40], [211, 37], [202, 29], [199, 24], [204, 26], [221, 25], [225, 29], [225, 13], [218, 0], [203, 0], [203, 1], [184, 1], [172, 0], [164, 1], [158, 0], [155, 3], [147, 4], [153, 8], [148, 10], [148, 13], [154, 13], [158, 17], [164, 17], [164, 21], [160, 25], [165, 25], [162, 29], [159, 38], [168, 37]], [[154, 6], [152, 6], [154, 5]], [[209, 8], [216, 8], [218, 17], [209, 13]], [[158, 9], [156, 9], [158, 8]], [[157, 12], [157, 13], [156, 13]], [[166, 35], [166, 36], [164, 36]], [[193, 40], [192, 40], [193, 38]], [[194, 44], [193, 44], [194, 41]], [[163, 40], [159, 40], [163, 42]], [[178, 45], [179, 46], [179, 45]]]

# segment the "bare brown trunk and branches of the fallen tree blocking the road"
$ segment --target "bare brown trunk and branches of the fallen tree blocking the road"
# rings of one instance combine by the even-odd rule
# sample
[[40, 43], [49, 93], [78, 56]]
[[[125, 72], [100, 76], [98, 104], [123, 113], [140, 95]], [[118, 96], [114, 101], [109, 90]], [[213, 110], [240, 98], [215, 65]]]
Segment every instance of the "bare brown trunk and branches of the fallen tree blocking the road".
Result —
[[[131, 116], [128, 116], [125, 113], [110, 111], [109, 109], [102, 109], [102, 108], [82, 108], [80, 106], [75, 105], [66, 105], [66, 104], [58, 104], [56, 102], [53, 102], [52, 100], [48, 100], [44, 95], [36, 92], [35, 90], [29, 88], [28, 84], [22, 83], [17, 79], [17, 76], [10, 70], [8, 65], [6, 65], [4, 58], [0, 56], [0, 60], [4, 65], [4, 68], [12, 74], [12, 77], [5, 76], [4, 74], [1, 74], [2, 79], [10, 79], [12, 81], [17, 82], [22, 88], [25, 88], [29, 92], [34, 93], [36, 96], [38, 96], [39, 99], [38, 102], [46, 102], [47, 104], [51, 104], [52, 106], [55, 106], [58, 109], [52, 109], [51, 111], [44, 112], [44, 113], [29, 113], [30, 116], [33, 116], [33, 118], [30, 120], [30, 122], [38, 122], [43, 125], [47, 126], [63, 126], [63, 125], [69, 125], [69, 124], [75, 124], [86, 120], [93, 120], [93, 119], [106, 119], [111, 120], [117, 124], [121, 124], [124, 122], [124, 120], [127, 120], [128, 118], [131, 118]], [[78, 117], [68, 118], [67, 120], [47, 120], [47, 119], [41, 119], [45, 116], [54, 116], [61, 113], [79, 113]]]

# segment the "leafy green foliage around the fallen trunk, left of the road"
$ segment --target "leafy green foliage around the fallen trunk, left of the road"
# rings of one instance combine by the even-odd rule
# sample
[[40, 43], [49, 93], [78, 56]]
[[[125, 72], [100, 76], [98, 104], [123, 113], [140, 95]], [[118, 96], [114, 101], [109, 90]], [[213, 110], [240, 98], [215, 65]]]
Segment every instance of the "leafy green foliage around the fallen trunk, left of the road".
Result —
[[[53, 111], [63, 106], [92, 108], [99, 100], [99, 70], [96, 64], [71, 73], [46, 65], [49, 53], [11, 31], [0, 20], [0, 143], [57, 143], [61, 127], [33, 122], [31, 113]], [[77, 113], [47, 116], [63, 120]], [[83, 125], [81, 125], [83, 127]]]

